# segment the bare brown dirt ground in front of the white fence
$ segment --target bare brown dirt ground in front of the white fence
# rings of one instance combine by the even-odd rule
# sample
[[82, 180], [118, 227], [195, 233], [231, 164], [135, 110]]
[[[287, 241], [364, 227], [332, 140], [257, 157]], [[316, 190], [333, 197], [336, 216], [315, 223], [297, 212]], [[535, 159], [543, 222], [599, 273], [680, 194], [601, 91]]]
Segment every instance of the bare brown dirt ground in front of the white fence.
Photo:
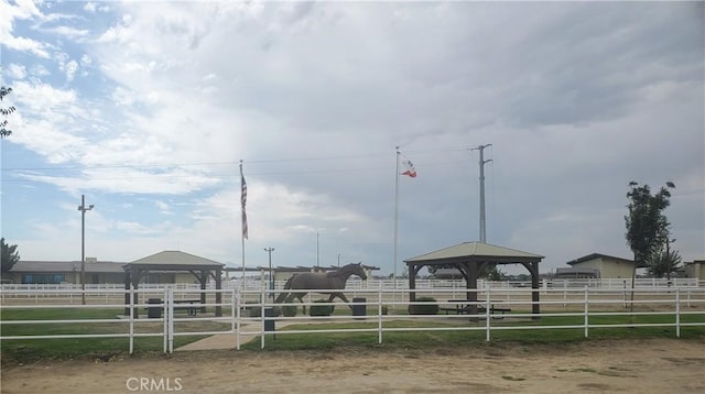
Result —
[[2, 393], [703, 393], [705, 341], [182, 351], [3, 365]]

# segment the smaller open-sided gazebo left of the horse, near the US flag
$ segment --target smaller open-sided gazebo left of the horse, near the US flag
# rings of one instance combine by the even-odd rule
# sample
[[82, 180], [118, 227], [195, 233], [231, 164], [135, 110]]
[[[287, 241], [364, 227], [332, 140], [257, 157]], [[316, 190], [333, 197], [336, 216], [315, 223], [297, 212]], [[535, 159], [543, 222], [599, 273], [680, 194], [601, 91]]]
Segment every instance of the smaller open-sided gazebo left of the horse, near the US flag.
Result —
[[[124, 264], [124, 288], [129, 289], [132, 285], [135, 289], [139, 286], [140, 280], [145, 277], [150, 272], [189, 272], [192, 273], [198, 283], [200, 283], [200, 289], [206, 289], [208, 283], [208, 275], [215, 280], [216, 289], [223, 288], [221, 273], [225, 264], [217, 261], [200, 258], [194, 254], [184, 253], [180, 251], [163, 251], [156, 254], [149, 255], [147, 258], [135, 260], [131, 263]], [[216, 304], [220, 304], [223, 295], [220, 292], [216, 293]], [[138, 304], [138, 294], [134, 293], [134, 304]], [[124, 304], [130, 304], [130, 295], [124, 295]], [[206, 293], [200, 293], [200, 304], [206, 304]], [[129, 315], [129, 308], [124, 308], [124, 314]], [[133, 310], [133, 316], [137, 317], [137, 309]], [[223, 308], [216, 306], [216, 316], [223, 316]]]

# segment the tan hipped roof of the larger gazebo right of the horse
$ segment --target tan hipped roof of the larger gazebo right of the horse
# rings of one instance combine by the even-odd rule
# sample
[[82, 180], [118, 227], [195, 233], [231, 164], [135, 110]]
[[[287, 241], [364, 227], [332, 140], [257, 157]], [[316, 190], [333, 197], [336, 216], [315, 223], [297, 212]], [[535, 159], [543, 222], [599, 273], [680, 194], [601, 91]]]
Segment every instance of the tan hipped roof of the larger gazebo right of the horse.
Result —
[[462, 262], [491, 262], [499, 264], [538, 263], [544, 256], [484, 242], [463, 242], [409, 260], [406, 264], [444, 265]]

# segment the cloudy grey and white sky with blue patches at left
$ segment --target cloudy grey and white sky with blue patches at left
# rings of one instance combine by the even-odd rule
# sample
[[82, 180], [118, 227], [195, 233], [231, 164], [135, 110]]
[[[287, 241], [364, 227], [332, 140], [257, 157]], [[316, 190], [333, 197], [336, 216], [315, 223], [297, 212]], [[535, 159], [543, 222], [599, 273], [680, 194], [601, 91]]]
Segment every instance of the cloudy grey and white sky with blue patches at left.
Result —
[[479, 240], [489, 145], [487, 242], [542, 273], [632, 256], [632, 180], [675, 183], [671, 248], [704, 259], [704, 4], [0, 0], [1, 233], [401, 274]]

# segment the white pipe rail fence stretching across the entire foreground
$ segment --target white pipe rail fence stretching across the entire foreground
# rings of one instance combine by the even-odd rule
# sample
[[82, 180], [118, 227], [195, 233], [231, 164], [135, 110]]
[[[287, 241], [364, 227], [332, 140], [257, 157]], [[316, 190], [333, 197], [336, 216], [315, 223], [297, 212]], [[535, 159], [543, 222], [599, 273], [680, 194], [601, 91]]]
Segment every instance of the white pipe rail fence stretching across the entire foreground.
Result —
[[[314, 291], [315, 292], [315, 291]], [[322, 291], [325, 292], [325, 291]], [[215, 302], [219, 293], [221, 300]], [[351, 307], [351, 315], [334, 315], [326, 317], [316, 316], [273, 316], [268, 313], [270, 308], [302, 304], [274, 304], [273, 295], [279, 291], [259, 289], [195, 289], [195, 288], [86, 288], [86, 305], [80, 305], [82, 292], [75, 288], [2, 288], [2, 310], [13, 309], [55, 309], [55, 308], [87, 308], [87, 309], [116, 309], [126, 310], [122, 316], [115, 319], [86, 318], [86, 319], [42, 319], [42, 320], [12, 320], [0, 319], [0, 328], [12, 325], [85, 325], [100, 324], [115, 325], [118, 332], [95, 333], [57, 333], [57, 335], [7, 335], [1, 336], [1, 341], [59, 339], [59, 338], [129, 338], [128, 350], [134, 351], [134, 339], [141, 337], [162, 337], [163, 351], [173, 352], [175, 337], [182, 336], [210, 336], [234, 335], [236, 348], [240, 349], [245, 339], [258, 336], [261, 347], [264, 348], [268, 340], [275, 333], [328, 333], [328, 332], [376, 332], [377, 340], [382, 343], [384, 335], [400, 331], [484, 331], [486, 340], [490, 341], [492, 335], [502, 330], [551, 330], [551, 329], [582, 329], [584, 336], [595, 329], [618, 327], [674, 327], [675, 336], [681, 336], [683, 327], [705, 327], [705, 287], [691, 285], [684, 286], [651, 286], [631, 288], [605, 288], [605, 287], [546, 287], [532, 289], [527, 287], [494, 287], [486, 285], [479, 289], [454, 288], [433, 286], [415, 291], [387, 288], [381, 284], [378, 288], [359, 288], [351, 286], [345, 289], [345, 294], [352, 300], [350, 305], [341, 302], [321, 302], [322, 296], [308, 294], [303, 305], [312, 306], [333, 305], [336, 308]], [[414, 293], [415, 299], [411, 300], [410, 294]], [[540, 300], [533, 300], [533, 293], [539, 293]], [[468, 297], [468, 294], [471, 297]], [[205, 296], [205, 303], [200, 296]], [[406, 311], [415, 305], [425, 305], [421, 297], [433, 298], [433, 305], [443, 308], [446, 314], [409, 315]], [[197, 302], [196, 302], [197, 298]], [[465, 299], [468, 298], [468, 299]], [[477, 300], [470, 300], [477, 299]], [[124, 300], [129, 299], [126, 305]], [[193, 304], [180, 302], [192, 299]], [[539, 306], [540, 313], [533, 307]], [[463, 306], [463, 314], [453, 314], [452, 310]], [[181, 316], [180, 308], [198, 308], [199, 316]], [[217, 308], [217, 309], [216, 309]], [[356, 314], [356, 308], [364, 314]], [[369, 313], [367, 309], [370, 309]], [[223, 316], [203, 310], [225, 309]], [[252, 313], [258, 309], [259, 314]], [[497, 313], [501, 310], [503, 315]], [[148, 316], [159, 311], [159, 316]], [[389, 313], [387, 313], [389, 311]], [[147, 313], [147, 315], [144, 315]], [[143, 317], [145, 318], [143, 318]], [[668, 321], [641, 321], [629, 324], [605, 324], [603, 317], [614, 316], [671, 316]], [[579, 322], [551, 324], [555, 318], [582, 317]], [[541, 321], [543, 320], [543, 321]], [[187, 330], [181, 322], [188, 321], [218, 321], [227, 324], [227, 329], [214, 330], [196, 327]], [[330, 329], [324, 322], [355, 321], [367, 322], [362, 328]], [[413, 321], [413, 327], [390, 327], [390, 321]], [[433, 321], [434, 324], [424, 325]], [[446, 326], [437, 327], [437, 322]], [[541, 321], [541, 325], [535, 324]], [[140, 332], [139, 328], [145, 325], [160, 325], [154, 332]], [[276, 330], [275, 325], [316, 324], [315, 329], [286, 329]], [[7, 330], [2, 330], [2, 333]]]

